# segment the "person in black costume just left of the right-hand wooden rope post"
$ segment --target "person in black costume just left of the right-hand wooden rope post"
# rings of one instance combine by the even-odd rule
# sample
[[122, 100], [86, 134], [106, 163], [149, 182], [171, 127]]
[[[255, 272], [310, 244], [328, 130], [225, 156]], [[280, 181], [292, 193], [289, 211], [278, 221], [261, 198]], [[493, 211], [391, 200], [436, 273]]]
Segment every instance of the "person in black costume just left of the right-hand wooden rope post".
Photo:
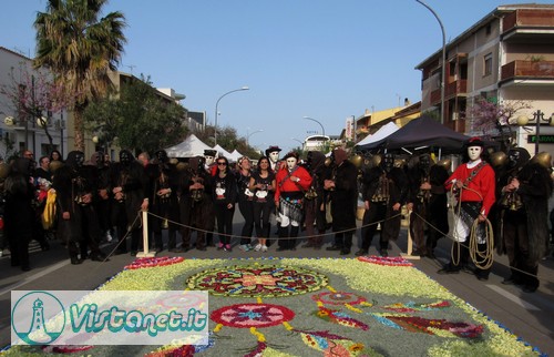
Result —
[[362, 198], [366, 207], [362, 220], [362, 243], [356, 255], [368, 254], [369, 246], [381, 223], [379, 253], [388, 256], [389, 241], [400, 233], [400, 208], [408, 195], [408, 177], [400, 167], [394, 167], [394, 155], [386, 153], [379, 166], [369, 169], [362, 177]]

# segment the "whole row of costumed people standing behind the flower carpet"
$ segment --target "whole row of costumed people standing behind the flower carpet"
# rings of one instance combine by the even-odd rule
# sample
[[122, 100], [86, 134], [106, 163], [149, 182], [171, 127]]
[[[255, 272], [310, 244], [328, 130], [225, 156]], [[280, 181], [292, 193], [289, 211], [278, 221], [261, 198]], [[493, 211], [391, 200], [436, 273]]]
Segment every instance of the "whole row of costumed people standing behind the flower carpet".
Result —
[[[143, 248], [140, 213], [147, 211], [148, 248], [156, 252], [208, 246], [232, 252], [236, 244], [243, 252], [264, 253], [273, 242], [277, 252], [296, 251], [300, 235], [302, 248], [321, 249], [329, 234], [327, 251], [349, 255], [359, 246], [355, 255], [361, 256], [380, 227], [376, 248], [388, 256], [406, 206], [413, 254], [434, 258], [437, 242], [450, 232], [454, 248], [440, 274], [456, 274], [471, 261], [475, 276], [485, 280], [495, 246], [512, 268], [503, 283], [536, 290], [538, 262], [550, 241], [550, 156], [531, 159], [517, 147], [494, 162], [479, 137], [466, 143], [463, 163], [453, 172], [449, 161], [435, 162], [428, 152], [402, 160], [390, 152], [349, 159], [340, 147], [329, 157], [310, 151], [305, 160], [296, 152], [280, 159], [280, 152], [269, 146], [254, 162], [243, 156], [229, 163], [215, 150], [186, 162], [171, 160], [164, 150], [152, 159], [122, 150], [116, 162], [102, 152], [86, 160], [80, 151], [65, 160], [54, 151], [35, 161], [23, 151], [0, 170], [8, 237], [0, 248], [9, 245], [11, 264], [23, 271], [30, 269], [29, 242], [45, 251], [54, 235], [68, 247], [71, 264], [106, 261], [100, 245], [113, 237], [115, 254], [136, 255]], [[359, 205], [360, 242], [352, 242]], [[237, 206], [244, 218], [239, 234], [233, 230]], [[55, 215], [45, 218], [44, 211]]]

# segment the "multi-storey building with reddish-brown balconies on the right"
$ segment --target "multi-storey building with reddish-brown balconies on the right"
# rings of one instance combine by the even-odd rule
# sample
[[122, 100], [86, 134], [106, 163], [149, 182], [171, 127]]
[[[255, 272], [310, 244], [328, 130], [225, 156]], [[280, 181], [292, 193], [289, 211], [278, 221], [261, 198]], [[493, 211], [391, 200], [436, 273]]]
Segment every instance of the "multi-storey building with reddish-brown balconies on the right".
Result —
[[[554, 113], [554, 4], [500, 6], [447, 47], [444, 102], [441, 95], [442, 49], [416, 68], [422, 73], [421, 111], [440, 112], [444, 108], [444, 125], [465, 134], [482, 134], [466, 115], [479, 100], [499, 105], [523, 101], [529, 108], [515, 116], [540, 121], [541, 140], [535, 144], [536, 125], [517, 125], [511, 118], [506, 132], [513, 143], [535, 150], [554, 152], [554, 130], [548, 119]], [[535, 115], [536, 116], [536, 115]], [[502, 134], [502, 129], [494, 135]], [[502, 134], [503, 135], [503, 134]], [[544, 136], [543, 136], [544, 135]], [[554, 137], [554, 136], [553, 136]]]

